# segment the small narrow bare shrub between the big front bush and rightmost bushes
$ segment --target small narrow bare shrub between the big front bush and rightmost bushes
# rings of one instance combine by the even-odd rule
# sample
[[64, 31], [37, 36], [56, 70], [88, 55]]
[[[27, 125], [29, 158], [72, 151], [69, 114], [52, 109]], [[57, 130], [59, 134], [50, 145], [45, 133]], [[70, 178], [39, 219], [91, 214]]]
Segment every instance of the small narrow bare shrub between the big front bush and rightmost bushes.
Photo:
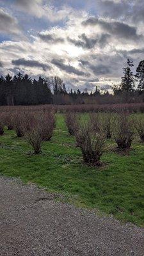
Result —
[[106, 138], [110, 139], [113, 134], [113, 128], [115, 125], [115, 115], [113, 113], [104, 113], [101, 116], [101, 125], [106, 134]]

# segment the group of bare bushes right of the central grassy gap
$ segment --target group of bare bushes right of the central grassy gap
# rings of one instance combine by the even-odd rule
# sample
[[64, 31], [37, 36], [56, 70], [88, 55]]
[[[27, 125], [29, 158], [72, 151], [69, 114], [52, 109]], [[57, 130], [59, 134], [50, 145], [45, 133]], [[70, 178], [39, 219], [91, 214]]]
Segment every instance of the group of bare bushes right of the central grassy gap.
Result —
[[144, 119], [128, 113], [98, 113], [80, 118], [67, 112], [65, 122], [68, 132], [76, 136], [77, 146], [81, 148], [85, 163], [100, 164], [106, 138], [113, 136], [120, 150], [131, 147], [136, 132], [144, 142]]

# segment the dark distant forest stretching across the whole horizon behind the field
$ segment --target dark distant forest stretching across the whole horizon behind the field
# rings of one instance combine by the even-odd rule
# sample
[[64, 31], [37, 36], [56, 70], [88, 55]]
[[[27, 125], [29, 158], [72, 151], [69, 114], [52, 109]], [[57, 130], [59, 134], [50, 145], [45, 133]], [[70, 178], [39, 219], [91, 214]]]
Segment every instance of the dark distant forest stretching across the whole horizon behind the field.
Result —
[[123, 102], [144, 102], [144, 60], [140, 61], [133, 74], [133, 62], [127, 60], [123, 68], [124, 76], [118, 86], [113, 86], [113, 94], [108, 91], [88, 93], [70, 90], [67, 92], [65, 83], [60, 77], [42, 76], [31, 79], [27, 74], [0, 77], [0, 105], [38, 105], [38, 104], [113, 104]]

